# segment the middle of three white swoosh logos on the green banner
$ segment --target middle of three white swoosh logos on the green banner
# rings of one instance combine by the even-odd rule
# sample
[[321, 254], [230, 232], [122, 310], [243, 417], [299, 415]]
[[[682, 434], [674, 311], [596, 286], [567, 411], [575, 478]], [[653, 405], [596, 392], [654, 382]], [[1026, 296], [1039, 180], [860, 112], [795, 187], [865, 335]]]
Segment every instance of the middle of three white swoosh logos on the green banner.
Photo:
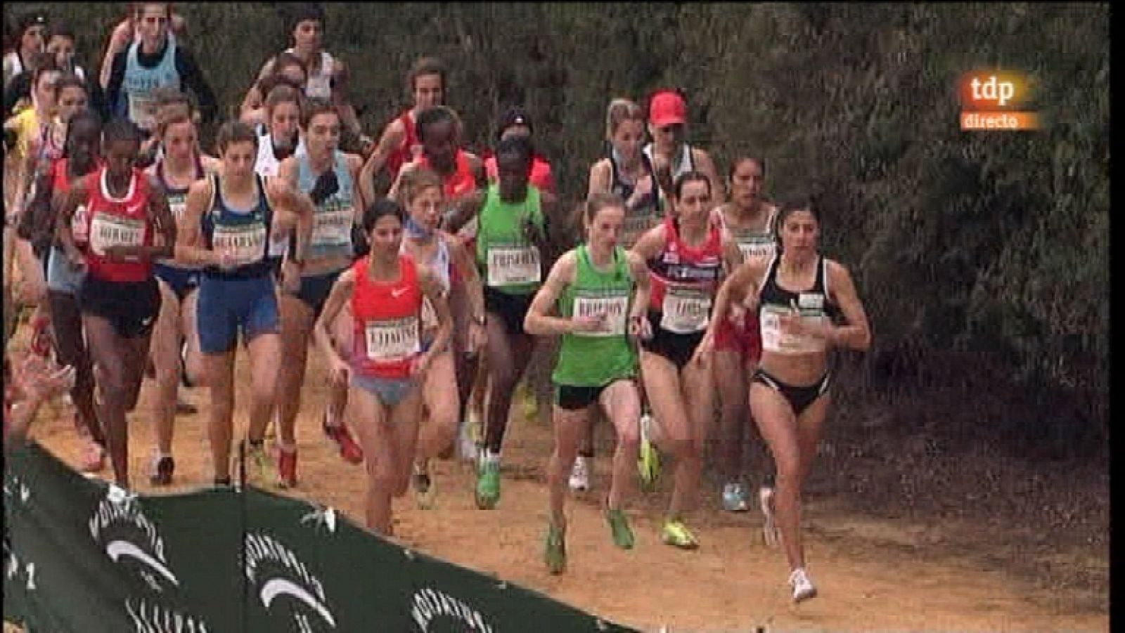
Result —
[[[334, 524], [334, 514], [331, 516], [328, 521]], [[249, 533], [245, 569], [246, 579], [258, 587], [258, 597], [267, 611], [279, 602], [291, 605], [296, 631], [335, 630], [336, 621], [327, 607], [324, 586], [289, 548], [267, 534]], [[282, 597], [290, 599], [279, 600]]]

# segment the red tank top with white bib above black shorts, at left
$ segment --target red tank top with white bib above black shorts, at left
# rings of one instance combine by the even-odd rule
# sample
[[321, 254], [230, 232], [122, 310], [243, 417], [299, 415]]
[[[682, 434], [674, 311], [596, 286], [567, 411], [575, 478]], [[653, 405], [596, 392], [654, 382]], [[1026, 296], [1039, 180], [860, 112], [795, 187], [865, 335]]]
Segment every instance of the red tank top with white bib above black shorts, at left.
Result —
[[137, 257], [132, 261], [110, 260], [106, 250], [112, 246], [152, 245], [152, 223], [148, 221], [148, 180], [133, 169], [124, 198], [109, 195], [108, 170], [102, 166], [86, 178], [89, 242], [86, 250], [88, 273], [102, 281], [144, 281], [152, 277], [152, 262]]

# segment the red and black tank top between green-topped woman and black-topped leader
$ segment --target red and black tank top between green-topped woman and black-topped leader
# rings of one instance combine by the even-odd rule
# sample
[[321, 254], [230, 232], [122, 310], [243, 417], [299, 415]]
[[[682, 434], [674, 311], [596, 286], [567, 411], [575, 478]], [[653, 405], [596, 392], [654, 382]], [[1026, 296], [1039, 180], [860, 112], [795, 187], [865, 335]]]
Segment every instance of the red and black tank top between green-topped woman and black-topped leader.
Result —
[[695, 247], [680, 239], [677, 221], [664, 220], [667, 243], [648, 261], [652, 282], [649, 309], [660, 314], [660, 328], [673, 334], [706, 329], [722, 274], [722, 234], [709, 225], [706, 241]]

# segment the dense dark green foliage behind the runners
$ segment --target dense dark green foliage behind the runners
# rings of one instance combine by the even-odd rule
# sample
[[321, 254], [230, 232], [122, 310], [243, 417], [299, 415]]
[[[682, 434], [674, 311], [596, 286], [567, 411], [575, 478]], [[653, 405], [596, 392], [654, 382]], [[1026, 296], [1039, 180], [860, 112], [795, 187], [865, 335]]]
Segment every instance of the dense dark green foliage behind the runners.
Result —
[[[57, 15], [60, 6], [36, 3]], [[6, 21], [24, 7], [8, 4]], [[183, 3], [188, 40], [230, 114], [286, 44], [277, 6]], [[610, 98], [678, 85], [692, 141], [724, 172], [767, 161], [767, 190], [813, 190], [825, 251], [873, 323], [870, 385], [965, 389], [1010, 377], [1100, 427], [1108, 395], [1108, 4], [344, 4], [327, 43], [368, 134], [408, 102], [422, 54], [451, 69], [470, 143], [529, 107], [561, 193], [582, 196]], [[68, 4], [91, 66], [122, 4]], [[961, 73], [1038, 81], [1038, 133], [965, 133]], [[991, 382], [974, 382], [981, 374]], [[1052, 398], [1055, 396], [1052, 396]], [[1044, 400], [1046, 401], [1046, 400]]]

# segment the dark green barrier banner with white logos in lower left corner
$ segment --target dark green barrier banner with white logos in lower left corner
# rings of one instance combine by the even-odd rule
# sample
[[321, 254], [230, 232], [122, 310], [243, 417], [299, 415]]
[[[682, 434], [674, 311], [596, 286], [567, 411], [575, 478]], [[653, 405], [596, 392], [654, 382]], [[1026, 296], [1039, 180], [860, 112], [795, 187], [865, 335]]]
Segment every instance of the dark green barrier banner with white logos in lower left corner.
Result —
[[4, 464], [4, 620], [29, 632], [631, 631], [254, 488], [144, 496]]

